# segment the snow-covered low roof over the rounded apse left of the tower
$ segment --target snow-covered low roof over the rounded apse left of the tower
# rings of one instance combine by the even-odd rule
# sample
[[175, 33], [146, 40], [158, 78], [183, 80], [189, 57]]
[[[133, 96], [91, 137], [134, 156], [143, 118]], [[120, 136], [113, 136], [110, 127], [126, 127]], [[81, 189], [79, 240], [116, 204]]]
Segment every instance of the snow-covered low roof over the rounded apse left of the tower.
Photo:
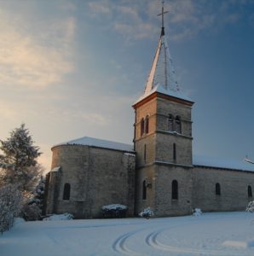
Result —
[[124, 143], [115, 143], [112, 141], [107, 140], [101, 140], [94, 137], [80, 137], [78, 139], [66, 142], [66, 143], [60, 143], [56, 146], [61, 145], [85, 145], [85, 146], [94, 146], [97, 148], [109, 148], [109, 149], [115, 149], [115, 150], [121, 150], [121, 151], [127, 151], [127, 152], [134, 152], [133, 145], [124, 144]]

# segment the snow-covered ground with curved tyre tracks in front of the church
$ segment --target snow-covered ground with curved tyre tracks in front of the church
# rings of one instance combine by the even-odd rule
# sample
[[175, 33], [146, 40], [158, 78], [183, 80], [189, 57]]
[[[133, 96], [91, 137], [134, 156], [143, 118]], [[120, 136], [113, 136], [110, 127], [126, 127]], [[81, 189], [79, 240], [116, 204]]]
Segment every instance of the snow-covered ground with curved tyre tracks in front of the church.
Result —
[[20, 222], [0, 255], [254, 255], [254, 214]]

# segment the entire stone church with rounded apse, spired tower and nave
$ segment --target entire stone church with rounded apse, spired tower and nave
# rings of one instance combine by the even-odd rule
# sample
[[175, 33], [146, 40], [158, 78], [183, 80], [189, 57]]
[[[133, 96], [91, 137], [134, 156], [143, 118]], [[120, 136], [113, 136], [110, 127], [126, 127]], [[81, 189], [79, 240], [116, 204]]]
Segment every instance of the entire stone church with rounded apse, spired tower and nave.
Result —
[[253, 165], [193, 154], [192, 107], [176, 82], [165, 37], [143, 94], [133, 104], [133, 144], [82, 137], [52, 149], [46, 176], [46, 214], [101, 218], [101, 207], [122, 204], [127, 216], [151, 207], [155, 217], [243, 211], [252, 201]]

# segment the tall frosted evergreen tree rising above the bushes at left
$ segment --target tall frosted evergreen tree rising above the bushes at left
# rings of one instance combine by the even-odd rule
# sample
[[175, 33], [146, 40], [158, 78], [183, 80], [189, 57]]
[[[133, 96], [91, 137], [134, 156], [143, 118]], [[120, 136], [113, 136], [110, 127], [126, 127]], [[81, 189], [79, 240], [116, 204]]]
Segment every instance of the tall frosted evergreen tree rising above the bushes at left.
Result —
[[25, 124], [10, 132], [6, 141], [0, 140], [0, 170], [2, 183], [17, 184], [21, 191], [32, 191], [41, 175], [37, 158], [41, 154], [33, 145]]

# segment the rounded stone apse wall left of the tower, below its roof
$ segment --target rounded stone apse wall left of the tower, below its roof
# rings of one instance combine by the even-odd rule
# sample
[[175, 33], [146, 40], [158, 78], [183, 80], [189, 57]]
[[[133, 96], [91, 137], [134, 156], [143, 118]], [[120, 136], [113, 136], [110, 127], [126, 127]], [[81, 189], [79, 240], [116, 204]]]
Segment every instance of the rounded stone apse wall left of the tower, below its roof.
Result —
[[[55, 198], [49, 190], [47, 213], [72, 212], [76, 218], [100, 218], [103, 205], [119, 203], [133, 216], [135, 154], [83, 145], [61, 145], [52, 151], [52, 169], [61, 166], [61, 171], [58, 178], [49, 181], [49, 187], [58, 191]], [[65, 183], [71, 185], [70, 200], [63, 200]]]

